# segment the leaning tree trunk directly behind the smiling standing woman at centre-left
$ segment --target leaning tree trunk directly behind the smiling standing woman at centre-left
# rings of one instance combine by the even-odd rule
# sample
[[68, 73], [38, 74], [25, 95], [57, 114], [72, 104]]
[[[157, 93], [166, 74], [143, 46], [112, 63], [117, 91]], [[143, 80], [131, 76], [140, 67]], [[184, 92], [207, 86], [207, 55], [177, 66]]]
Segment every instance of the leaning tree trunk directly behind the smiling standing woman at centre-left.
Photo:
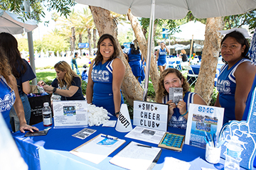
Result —
[[104, 8], [89, 6], [92, 12], [93, 20], [95, 22], [95, 26], [99, 32], [99, 35], [103, 35], [108, 33], [114, 36], [114, 39], [117, 42], [117, 47], [120, 52], [120, 57], [122, 62], [126, 67], [126, 71], [124, 74], [124, 80], [122, 81], [122, 92], [124, 94], [124, 98], [127, 99], [127, 102], [130, 106], [133, 106], [134, 100], [141, 100], [143, 97], [142, 87], [139, 86], [139, 81], [132, 74], [132, 69], [129, 67], [127, 60], [125, 59], [122, 48], [119, 45], [119, 41], [117, 40], [117, 25], [113, 22], [112, 17], [110, 16], [110, 11], [107, 11]]

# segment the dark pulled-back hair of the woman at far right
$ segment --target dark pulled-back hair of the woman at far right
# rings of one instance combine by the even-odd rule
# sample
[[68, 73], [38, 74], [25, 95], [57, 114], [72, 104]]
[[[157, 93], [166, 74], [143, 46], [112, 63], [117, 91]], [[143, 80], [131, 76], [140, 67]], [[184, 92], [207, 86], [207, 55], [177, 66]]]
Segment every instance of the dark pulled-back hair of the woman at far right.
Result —
[[[225, 35], [225, 37], [223, 38], [223, 40], [221, 41], [221, 45], [223, 45], [223, 42], [225, 41], [225, 39], [227, 39], [228, 37], [232, 37], [232, 38], [235, 38], [235, 40], [238, 41], [238, 43], [240, 43], [240, 45], [245, 45], [245, 51], [242, 52], [242, 57], [243, 58], [246, 58], [246, 59], [250, 59], [248, 56], [247, 56], [247, 53], [249, 51], [249, 48], [250, 48], [250, 45], [249, 45], [249, 42], [248, 40], [245, 38], [244, 35], [242, 35], [242, 33], [238, 32], [238, 31], [233, 31], [231, 33], [228, 33], [227, 35]], [[223, 60], [223, 62], [225, 62], [225, 60]], [[227, 62], [225, 62], [227, 64]]]

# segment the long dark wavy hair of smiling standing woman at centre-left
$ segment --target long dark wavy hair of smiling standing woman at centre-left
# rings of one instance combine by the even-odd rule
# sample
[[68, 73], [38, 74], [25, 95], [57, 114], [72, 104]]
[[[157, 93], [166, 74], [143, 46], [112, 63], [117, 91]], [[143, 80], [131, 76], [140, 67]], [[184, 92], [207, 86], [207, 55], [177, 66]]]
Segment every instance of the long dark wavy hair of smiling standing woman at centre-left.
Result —
[[95, 57], [95, 64], [99, 64], [99, 62], [101, 62], [103, 60], [103, 56], [100, 53], [100, 43], [102, 41], [104, 41], [105, 39], [109, 38], [113, 44], [114, 47], [114, 53], [113, 55], [110, 57], [109, 61], [113, 60], [114, 58], [119, 56], [119, 50], [117, 48], [117, 42], [114, 40], [114, 37], [110, 34], [103, 34], [101, 35], [100, 39], [97, 42], [97, 53], [96, 53], [96, 57]]

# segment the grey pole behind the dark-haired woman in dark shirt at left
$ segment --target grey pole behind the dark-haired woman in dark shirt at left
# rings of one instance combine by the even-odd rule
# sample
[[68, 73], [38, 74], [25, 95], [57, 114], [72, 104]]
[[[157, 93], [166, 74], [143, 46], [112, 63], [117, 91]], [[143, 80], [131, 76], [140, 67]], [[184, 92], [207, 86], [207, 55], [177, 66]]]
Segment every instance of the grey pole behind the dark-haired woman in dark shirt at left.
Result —
[[[24, 1], [24, 7], [25, 7], [25, 11], [26, 11], [27, 16], [28, 16], [28, 13], [30, 12], [29, 0]], [[33, 69], [33, 72], [36, 74], [35, 57], [34, 57], [34, 52], [33, 52], [32, 31], [28, 32], [27, 34], [28, 34], [28, 51], [29, 51], [30, 64], [31, 64], [31, 67]], [[37, 81], [36, 81], [36, 78], [35, 78], [35, 79], [32, 80], [32, 85], [36, 85], [36, 84], [37, 84]]]

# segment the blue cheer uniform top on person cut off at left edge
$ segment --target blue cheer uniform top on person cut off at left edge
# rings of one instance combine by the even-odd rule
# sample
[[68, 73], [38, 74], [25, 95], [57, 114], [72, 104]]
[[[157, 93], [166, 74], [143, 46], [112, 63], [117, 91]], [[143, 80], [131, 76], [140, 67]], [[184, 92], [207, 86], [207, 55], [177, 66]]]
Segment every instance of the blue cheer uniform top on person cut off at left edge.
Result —
[[0, 113], [3, 115], [6, 125], [11, 130], [10, 116], [11, 107], [14, 105], [16, 96], [14, 90], [6, 83], [3, 76], [0, 77]]

